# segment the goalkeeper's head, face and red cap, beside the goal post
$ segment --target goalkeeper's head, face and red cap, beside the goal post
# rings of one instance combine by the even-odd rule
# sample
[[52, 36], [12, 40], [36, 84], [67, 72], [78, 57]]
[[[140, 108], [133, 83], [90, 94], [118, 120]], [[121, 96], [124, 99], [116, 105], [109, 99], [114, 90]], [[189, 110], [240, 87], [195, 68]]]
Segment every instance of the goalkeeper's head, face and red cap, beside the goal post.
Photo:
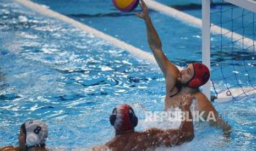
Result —
[[208, 82], [210, 71], [203, 63], [190, 63], [186, 69], [181, 71], [179, 80], [189, 88], [198, 89]]

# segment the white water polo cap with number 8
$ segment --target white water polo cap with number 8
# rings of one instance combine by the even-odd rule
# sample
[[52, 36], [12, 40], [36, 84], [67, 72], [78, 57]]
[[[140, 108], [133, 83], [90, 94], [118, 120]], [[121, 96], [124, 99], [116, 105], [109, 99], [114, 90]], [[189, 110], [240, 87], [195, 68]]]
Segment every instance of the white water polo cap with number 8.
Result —
[[45, 144], [48, 137], [48, 127], [41, 120], [31, 120], [25, 123], [26, 147]]

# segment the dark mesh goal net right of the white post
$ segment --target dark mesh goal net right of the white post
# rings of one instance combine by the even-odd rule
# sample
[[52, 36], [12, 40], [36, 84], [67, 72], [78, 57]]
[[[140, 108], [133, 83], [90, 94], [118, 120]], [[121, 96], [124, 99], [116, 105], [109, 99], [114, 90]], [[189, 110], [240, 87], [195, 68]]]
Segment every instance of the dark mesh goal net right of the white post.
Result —
[[209, 12], [211, 100], [255, 97], [256, 1], [214, 0]]

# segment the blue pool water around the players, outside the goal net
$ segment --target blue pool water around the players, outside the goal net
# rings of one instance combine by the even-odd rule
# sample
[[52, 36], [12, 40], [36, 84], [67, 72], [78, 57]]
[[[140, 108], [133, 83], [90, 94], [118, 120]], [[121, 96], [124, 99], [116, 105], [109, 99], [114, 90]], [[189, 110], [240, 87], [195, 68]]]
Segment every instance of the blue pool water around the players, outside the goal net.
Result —
[[[119, 13], [109, 1], [34, 2], [150, 52], [144, 22], [133, 13]], [[198, 28], [155, 11], [150, 15], [169, 59], [181, 66], [201, 60]], [[136, 130], [157, 126], [143, 118], [145, 111], [164, 109], [165, 82], [159, 68], [12, 1], [0, 2], [0, 18], [0, 147], [17, 145], [19, 125], [29, 119], [47, 122], [49, 148], [104, 144], [115, 135], [108, 117], [119, 103], [131, 104], [138, 114]], [[255, 150], [255, 97], [213, 104], [232, 126], [230, 142], [220, 130], [196, 124], [194, 140], [173, 149]]]

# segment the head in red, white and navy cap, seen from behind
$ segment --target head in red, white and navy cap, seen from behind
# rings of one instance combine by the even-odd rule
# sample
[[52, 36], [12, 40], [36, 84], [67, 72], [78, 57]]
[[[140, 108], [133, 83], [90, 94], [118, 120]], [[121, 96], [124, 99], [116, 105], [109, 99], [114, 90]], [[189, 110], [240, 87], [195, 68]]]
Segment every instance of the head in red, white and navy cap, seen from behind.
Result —
[[110, 115], [110, 123], [115, 127], [116, 132], [124, 132], [134, 130], [138, 118], [128, 104], [119, 104]]

